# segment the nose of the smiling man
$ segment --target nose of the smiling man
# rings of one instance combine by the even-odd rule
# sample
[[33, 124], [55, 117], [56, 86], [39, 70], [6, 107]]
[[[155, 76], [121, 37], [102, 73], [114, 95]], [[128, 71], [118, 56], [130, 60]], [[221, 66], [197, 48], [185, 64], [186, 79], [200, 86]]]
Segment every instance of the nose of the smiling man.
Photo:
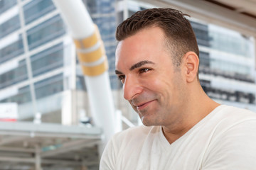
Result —
[[137, 94], [141, 94], [143, 88], [141, 84], [139, 84], [138, 79], [135, 79], [134, 77], [126, 76], [123, 89], [124, 89], [124, 98], [127, 101], [130, 101], [132, 100], [132, 98], [137, 96]]

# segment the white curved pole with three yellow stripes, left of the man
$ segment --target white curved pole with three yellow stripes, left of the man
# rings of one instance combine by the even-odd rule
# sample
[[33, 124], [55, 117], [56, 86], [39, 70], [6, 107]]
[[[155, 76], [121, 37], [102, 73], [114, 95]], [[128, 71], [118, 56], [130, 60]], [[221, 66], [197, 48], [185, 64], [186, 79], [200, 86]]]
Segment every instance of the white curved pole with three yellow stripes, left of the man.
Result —
[[115, 131], [116, 121], [107, 72], [107, 57], [100, 33], [81, 0], [53, 2], [68, 25], [77, 47], [95, 125], [102, 127], [105, 140], [110, 140]]

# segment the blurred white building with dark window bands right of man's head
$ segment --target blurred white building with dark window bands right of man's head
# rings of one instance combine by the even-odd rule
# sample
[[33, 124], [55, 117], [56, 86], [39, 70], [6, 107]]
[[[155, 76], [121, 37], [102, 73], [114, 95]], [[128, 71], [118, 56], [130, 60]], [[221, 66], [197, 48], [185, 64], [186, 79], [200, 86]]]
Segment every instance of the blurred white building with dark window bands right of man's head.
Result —
[[191, 21], [198, 40], [199, 78], [206, 94], [219, 103], [256, 111], [255, 58], [252, 37]]

